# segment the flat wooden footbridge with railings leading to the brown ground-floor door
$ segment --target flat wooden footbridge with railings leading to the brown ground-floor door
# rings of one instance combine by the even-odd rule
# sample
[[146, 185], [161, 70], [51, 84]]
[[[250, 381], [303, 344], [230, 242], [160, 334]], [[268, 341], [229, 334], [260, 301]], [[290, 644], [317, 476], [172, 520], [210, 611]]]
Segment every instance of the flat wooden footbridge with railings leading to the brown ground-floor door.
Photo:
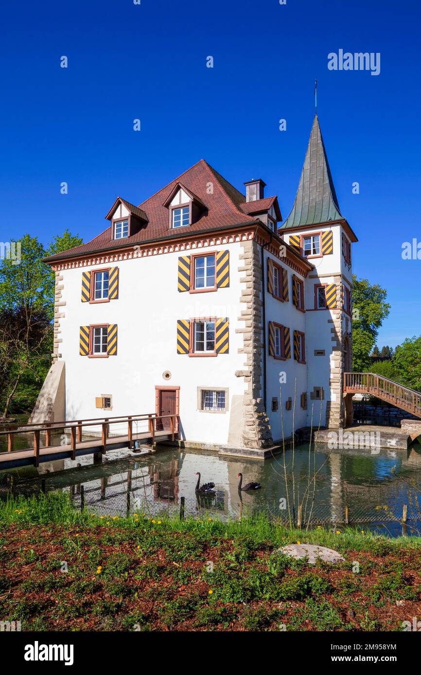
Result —
[[[17, 466], [39, 466], [41, 462], [72, 459], [80, 455], [99, 457], [107, 450], [133, 448], [134, 441], [152, 443], [178, 437], [178, 415], [141, 414], [126, 417], [101, 417], [84, 420], [28, 424], [16, 429], [0, 431], [7, 436], [7, 452], [0, 452], [0, 471]], [[113, 435], [110, 435], [112, 428]], [[61, 432], [59, 445], [51, 445], [52, 433]], [[67, 433], [66, 433], [67, 432]], [[15, 450], [16, 436], [28, 438], [28, 445]], [[70, 435], [70, 442], [67, 436]], [[85, 439], [82, 440], [82, 436]], [[88, 437], [88, 438], [86, 438]]]

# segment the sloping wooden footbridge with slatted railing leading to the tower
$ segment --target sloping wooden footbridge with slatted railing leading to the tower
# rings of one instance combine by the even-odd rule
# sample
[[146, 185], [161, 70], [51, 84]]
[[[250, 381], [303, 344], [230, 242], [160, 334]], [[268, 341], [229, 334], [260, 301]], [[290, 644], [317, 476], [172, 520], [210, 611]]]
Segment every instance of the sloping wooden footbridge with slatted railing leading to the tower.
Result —
[[421, 394], [376, 373], [344, 373], [344, 394], [372, 394], [397, 408], [421, 417]]

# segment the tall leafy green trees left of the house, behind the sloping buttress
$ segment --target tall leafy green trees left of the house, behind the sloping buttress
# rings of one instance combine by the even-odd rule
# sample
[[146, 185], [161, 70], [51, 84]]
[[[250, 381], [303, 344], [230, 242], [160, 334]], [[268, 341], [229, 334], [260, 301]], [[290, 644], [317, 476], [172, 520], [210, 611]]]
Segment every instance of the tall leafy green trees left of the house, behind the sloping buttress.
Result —
[[44, 248], [25, 234], [20, 261], [4, 259], [0, 266], [0, 406], [5, 418], [12, 403], [25, 402], [26, 410], [51, 365], [55, 274], [43, 263], [52, 255], [82, 243], [68, 229]]

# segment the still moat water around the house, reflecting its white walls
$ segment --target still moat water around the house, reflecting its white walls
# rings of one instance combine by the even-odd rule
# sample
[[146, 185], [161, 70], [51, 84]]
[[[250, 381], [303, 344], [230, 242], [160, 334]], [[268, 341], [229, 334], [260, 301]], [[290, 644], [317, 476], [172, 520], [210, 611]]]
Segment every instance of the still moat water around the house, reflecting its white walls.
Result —
[[[285, 452], [285, 468], [282, 454], [262, 462], [159, 445], [153, 454], [135, 458], [125, 454], [124, 450], [107, 453], [99, 466], [93, 466], [92, 456], [84, 456], [78, 458], [82, 466], [59, 460], [41, 464], [39, 471], [32, 467], [4, 471], [0, 494], [5, 497], [11, 486], [15, 493], [38, 493], [43, 479], [47, 491], [68, 491], [76, 505], [83, 485], [86, 507], [105, 515], [124, 515], [127, 508], [131, 513], [174, 514], [184, 497], [186, 516], [237, 518], [240, 513], [266, 511], [287, 518], [284, 507], [287, 499], [292, 507], [295, 490], [295, 511], [300, 503], [307, 518], [311, 511], [312, 526], [336, 527], [343, 522], [347, 506], [350, 524], [397, 536], [403, 531], [400, 520], [407, 504], [404, 532], [421, 533], [421, 513], [416, 508], [421, 491], [418, 443], [407, 451], [329, 450], [322, 445], [309, 449], [305, 443], [294, 456], [291, 450]], [[197, 497], [197, 471], [202, 482], [215, 483], [212, 497]], [[239, 472], [245, 483], [259, 481], [262, 489], [239, 493]], [[317, 476], [312, 481], [314, 472]]]

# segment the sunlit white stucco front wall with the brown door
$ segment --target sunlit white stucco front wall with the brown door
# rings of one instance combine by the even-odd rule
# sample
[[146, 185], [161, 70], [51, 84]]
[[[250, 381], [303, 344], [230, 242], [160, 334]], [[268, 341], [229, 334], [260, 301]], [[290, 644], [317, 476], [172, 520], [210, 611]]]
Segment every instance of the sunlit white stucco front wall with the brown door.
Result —
[[[61, 358], [66, 361], [66, 418], [101, 417], [95, 397], [112, 394], [109, 416], [155, 412], [155, 385], [180, 387], [180, 421], [190, 441], [227, 443], [230, 413], [197, 410], [197, 387], [229, 389], [229, 410], [233, 396], [243, 396], [244, 356], [238, 354], [243, 336], [235, 329], [241, 309], [241, 244], [224, 244], [203, 249], [230, 251], [230, 286], [216, 292], [178, 292], [178, 253], [111, 263], [119, 267], [119, 298], [100, 304], [80, 301], [82, 270], [64, 270], [61, 319]], [[194, 252], [194, 251], [191, 251]], [[187, 254], [188, 252], [186, 252]], [[97, 265], [97, 268], [104, 265]], [[192, 317], [228, 317], [229, 354], [216, 357], [189, 357], [176, 352], [176, 321]], [[79, 355], [79, 327], [96, 323], [117, 323], [118, 353], [109, 358]], [[170, 371], [169, 381], [163, 379]]]

